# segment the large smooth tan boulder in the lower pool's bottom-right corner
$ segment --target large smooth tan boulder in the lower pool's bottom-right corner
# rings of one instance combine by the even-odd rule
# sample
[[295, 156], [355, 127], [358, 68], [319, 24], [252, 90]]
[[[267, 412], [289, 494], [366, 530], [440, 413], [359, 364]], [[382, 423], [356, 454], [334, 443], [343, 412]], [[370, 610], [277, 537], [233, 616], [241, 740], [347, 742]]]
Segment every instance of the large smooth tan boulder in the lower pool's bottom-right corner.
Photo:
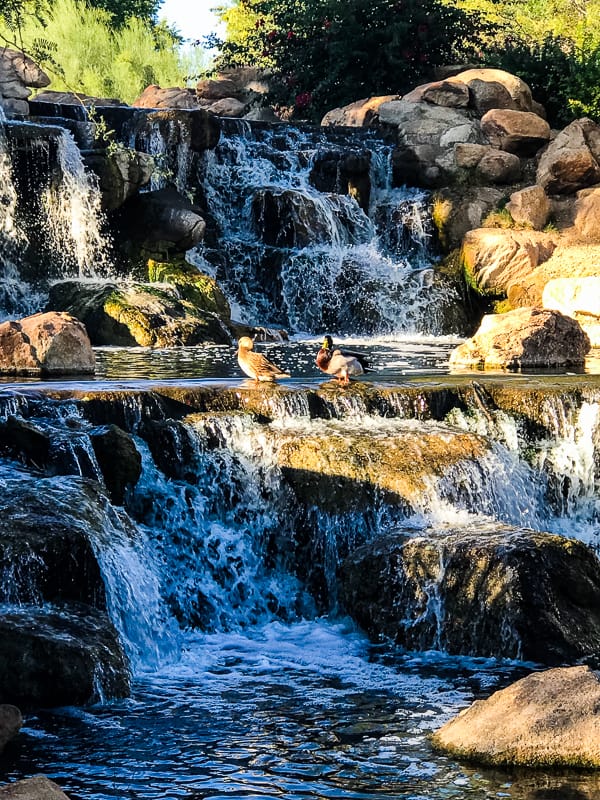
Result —
[[477, 700], [436, 731], [432, 743], [481, 764], [597, 769], [599, 707], [600, 679], [589, 667], [534, 672]]

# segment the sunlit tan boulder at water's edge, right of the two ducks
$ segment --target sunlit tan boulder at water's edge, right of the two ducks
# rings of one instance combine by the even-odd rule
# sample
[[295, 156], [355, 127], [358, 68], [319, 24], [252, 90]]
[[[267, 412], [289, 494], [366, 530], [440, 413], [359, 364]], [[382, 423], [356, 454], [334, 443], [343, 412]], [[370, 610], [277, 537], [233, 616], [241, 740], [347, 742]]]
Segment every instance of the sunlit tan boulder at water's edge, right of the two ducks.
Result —
[[450, 368], [523, 369], [582, 366], [590, 340], [558, 311], [518, 308], [489, 314], [475, 335], [450, 354]]

